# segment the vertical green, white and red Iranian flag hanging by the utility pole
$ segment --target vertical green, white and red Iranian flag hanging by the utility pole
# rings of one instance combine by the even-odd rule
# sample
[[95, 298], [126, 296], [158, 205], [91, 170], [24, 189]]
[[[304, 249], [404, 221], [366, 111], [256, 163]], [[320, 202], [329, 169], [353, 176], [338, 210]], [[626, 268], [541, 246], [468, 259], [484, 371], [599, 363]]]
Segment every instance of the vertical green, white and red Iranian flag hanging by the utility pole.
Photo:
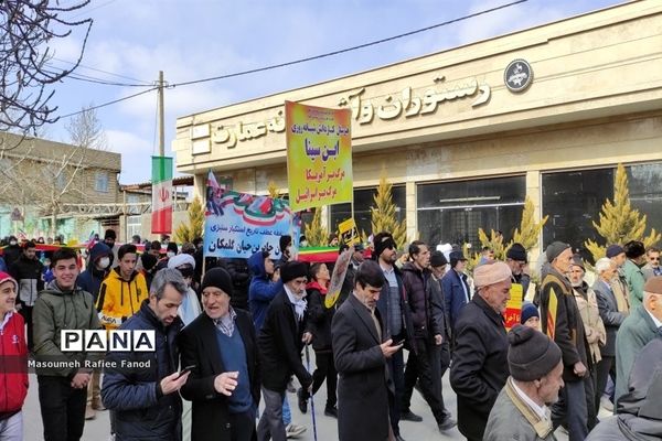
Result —
[[172, 158], [152, 157], [152, 234], [172, 232]]

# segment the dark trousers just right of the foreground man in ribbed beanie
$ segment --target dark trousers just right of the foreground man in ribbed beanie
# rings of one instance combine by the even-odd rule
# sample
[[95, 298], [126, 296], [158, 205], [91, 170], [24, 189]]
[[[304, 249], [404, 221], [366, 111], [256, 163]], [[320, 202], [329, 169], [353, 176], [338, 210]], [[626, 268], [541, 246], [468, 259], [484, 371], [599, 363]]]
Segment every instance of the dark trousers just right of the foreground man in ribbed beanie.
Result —
[[569, 441], [584, 441], [588, 435], [588, 409], [585, 388], [587, 383], [590, 384], [590, 376], [588, 375], [579, 381], [565, 381], [565, 386], [558, 394], [558, 401], [552, 406], [554, 429], [565, 424]]

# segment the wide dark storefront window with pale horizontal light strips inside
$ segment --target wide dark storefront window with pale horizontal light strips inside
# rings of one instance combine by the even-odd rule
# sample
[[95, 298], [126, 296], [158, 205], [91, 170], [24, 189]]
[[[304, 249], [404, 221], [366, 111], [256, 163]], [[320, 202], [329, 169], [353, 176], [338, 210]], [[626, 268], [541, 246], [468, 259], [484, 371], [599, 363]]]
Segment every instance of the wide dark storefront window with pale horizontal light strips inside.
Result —
[[509, 241], [520, 225], [525, 195], [525, 176], [418, 185], [420, 239], [433, 246], [469, 243], [478, 249], [478, 229], [483, 228], [501, 230]]

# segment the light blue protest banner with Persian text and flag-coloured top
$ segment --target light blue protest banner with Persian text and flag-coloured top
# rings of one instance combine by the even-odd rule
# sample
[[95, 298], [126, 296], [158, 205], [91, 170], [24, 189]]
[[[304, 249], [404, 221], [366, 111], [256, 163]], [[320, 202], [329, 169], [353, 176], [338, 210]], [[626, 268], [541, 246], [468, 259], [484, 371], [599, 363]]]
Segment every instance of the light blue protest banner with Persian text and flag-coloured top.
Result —
[[287, 201], [227, 191], [210, 172], [204, 222], [204, 256], [248, 258], [260, 249], [280, 258], [279, 239], [293, 235]]

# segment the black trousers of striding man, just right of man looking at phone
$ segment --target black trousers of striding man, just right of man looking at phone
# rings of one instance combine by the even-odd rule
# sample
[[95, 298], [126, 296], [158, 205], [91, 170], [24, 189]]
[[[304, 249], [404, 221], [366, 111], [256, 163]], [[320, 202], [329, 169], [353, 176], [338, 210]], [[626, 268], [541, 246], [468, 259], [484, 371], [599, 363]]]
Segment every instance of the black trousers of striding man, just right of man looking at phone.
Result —
[[401, 401], [401, 411], [407, 412], [412, 405], [412, 394], [414, 386], [418, 379], [420, 392], [426, 400], [437, 423], [444, 422], [446, 411], [444, 407], [444, 397], [441, 397], [441, 377], [438, 375], [439, 369], [439, 348], [425, 338], [416, 338], [416, 353], [409, 351], [407, 358], [407, 368], [405, 369], [405, 390]]

